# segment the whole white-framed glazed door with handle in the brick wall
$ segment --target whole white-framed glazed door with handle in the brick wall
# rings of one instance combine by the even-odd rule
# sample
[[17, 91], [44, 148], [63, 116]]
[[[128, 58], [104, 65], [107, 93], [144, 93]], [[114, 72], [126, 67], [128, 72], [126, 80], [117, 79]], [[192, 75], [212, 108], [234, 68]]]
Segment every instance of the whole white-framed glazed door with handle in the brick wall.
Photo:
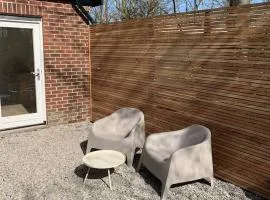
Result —
[[42, 23], [0, 16], [0, 130], [46, 120]]

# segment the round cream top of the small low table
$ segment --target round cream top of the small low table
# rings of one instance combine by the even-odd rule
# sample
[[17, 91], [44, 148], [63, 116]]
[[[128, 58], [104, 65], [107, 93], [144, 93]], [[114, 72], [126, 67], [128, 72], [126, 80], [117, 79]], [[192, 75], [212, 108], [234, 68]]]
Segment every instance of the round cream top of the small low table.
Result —
[[126, 161], [123, 153], [114, 150], [98, 150], [83, 157], [83, 163], [96, 169], [114, 168]]

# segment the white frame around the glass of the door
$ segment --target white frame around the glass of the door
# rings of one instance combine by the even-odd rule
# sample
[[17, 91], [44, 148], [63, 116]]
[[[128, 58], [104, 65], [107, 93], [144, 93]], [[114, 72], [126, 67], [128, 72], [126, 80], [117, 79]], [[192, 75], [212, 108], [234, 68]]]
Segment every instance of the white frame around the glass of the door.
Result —
[[36, 113], [0, 117], [0, 130], [19, 128], [46, 122], [45, 75], [43, 31], [41, 18], [1, 16], [0, 27], [29, 28], [33, 30], [33, 52], [35, 73], [39, 70], [39, 80], [35, 78]]

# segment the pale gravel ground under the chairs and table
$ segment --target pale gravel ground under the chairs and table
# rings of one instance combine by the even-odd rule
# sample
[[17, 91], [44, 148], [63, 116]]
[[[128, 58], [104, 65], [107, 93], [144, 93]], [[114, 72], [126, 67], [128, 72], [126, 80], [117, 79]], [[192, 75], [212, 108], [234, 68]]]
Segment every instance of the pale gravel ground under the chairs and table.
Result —
[[[86, 124], [73, 124], [0, 132], [0, 199], [160, 199], [161, 184], [145, 168], [140, 173], [126, 165], [117, 168], [112, 191], [106, 170], [91, 170], [83, 185], [87, 168], [81, 159], [88, 130]], [[263, 198], [218, 179], [212, 190], [206, 181], [197, 181], [176, 185], [168, 195], [168, 200], [188, 199]]]

